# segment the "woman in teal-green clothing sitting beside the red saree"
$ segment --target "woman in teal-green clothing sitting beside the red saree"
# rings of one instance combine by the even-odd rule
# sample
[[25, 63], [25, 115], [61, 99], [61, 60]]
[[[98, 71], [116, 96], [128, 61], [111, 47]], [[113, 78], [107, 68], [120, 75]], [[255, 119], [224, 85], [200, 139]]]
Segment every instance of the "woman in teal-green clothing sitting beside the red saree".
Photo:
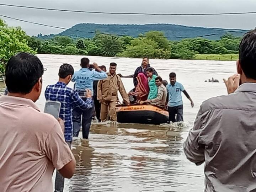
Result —
[[154, 99], [158, 93], [158, 87], [155, 84], [156, 75], [153, 74], [154, 70], [152, 68], [146, 69], [146, 75], [148, 76], [148, 84], [149, 84], [149, 94], [148, 100]]

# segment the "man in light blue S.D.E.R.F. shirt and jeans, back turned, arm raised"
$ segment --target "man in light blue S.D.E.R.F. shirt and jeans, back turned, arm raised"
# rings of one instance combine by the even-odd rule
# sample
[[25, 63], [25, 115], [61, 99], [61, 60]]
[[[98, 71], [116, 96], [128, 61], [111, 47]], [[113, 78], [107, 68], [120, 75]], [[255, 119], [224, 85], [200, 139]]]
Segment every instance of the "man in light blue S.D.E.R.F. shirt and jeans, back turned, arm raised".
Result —
[[[80, 97], [86, 101], [86, 89], [90, 89], [93, 94], [93, 81], [106, 79], [107, 74], [102, 71], [97, 63], [94, 63], [94, 69], [96, 71], [89, 70], [90, 60], [88, 58], [81, 59], [81, 69], [76, 71], [72, 77], [72, 81], [75, 82], [75, 90], [78, 91]], [[93, 95], [92, 95], [93, 96]], [[82, 137], [88, 139], [92, 115], [94, 112], [94, 107], [87, 111], [81, 111], [79, 108], [75, 108], [73, 111], [73, 126], [74, 126], [74, 136], [78, 137], [81, 128], [81, 116], [82, 116]]]

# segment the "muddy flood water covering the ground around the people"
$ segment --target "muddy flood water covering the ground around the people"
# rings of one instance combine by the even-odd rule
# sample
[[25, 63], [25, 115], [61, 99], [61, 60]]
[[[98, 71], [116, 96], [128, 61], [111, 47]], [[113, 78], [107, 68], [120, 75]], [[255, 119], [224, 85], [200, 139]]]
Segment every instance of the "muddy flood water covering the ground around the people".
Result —
[[[69, 63], [80, 69], [81, 56], [38, 55], [47, 71], [43, 75], [43, 89], [58, 80], [58, 69]], [[98, 65], [117, 63], [117, 73], [134, 73], [141, 59], [90, 57]], [[201, 103], [207, 98], [226, 94], [223, 78], [236, 71], [235, 62], [198, 60], [151, 59], [162, 79], [168, 80], [170, 72], [177, 74], [194, 101], [194, 108], [183, 95], [184, 126], [138, 125], [138, 124], [93, 124], [89, 141], [74, 138], [73, 152], [77, 160], [73, 178], [65, 181], [65, 192], [198, 192], [203, 191], [203, 165], [189, 162], [182, 149], [188, 130], [193, 125]], [[220, 83], [204, 82], [215, 78]], [[126, 90], [133, 88], [132, 79], [122, 79]], [[69, 85], [70, 87], [73, 84]], [[44, 90], [43, 90], [44, 91]], [[121, 97], [120, 97], [121, 98]], [[43, 110], [45, 98], [42, 93], [37, 105]]]

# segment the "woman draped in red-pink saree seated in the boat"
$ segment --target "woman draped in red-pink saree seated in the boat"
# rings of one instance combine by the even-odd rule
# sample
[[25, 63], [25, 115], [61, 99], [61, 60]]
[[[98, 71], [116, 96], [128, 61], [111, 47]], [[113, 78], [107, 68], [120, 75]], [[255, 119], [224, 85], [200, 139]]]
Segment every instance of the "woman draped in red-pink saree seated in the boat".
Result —
[[148, 79], [143, 73], [139, 73], [137, 76], [138, 85], [135, 88], [134, 92], [130, 92], [129, 95], [132, 95], [135, 98], [136, 103], [140, 101], [145, 101], [148, 98], [149, 94], [149, 86], [148, 86]]

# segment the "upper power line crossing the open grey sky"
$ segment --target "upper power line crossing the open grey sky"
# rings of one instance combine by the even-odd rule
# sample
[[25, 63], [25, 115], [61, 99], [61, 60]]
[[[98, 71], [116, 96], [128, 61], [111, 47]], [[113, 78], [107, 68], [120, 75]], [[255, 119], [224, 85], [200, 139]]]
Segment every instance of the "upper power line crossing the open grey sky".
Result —
[[66, 10], [66, 9], [53, 9], [45, 7], [32, 7], [22, 5], [0, 4], [2, 6], [21, 7], [28, 9], [50, 10], [50, 11], [64, 11], [64, 12], [78, 12], [89, 14], [111, 14], [111, 15], [179, 15], [179, 16], [199, 16], [199, 15], [244, 15], [256, 14], [256, 12], [230, 12], [230, 13], [196, 13], [196, 14], [175, 14], [175, 13], [131, 13], [131, 12], [100, 12], [100, 11], [79, 11], [79, 10]]

